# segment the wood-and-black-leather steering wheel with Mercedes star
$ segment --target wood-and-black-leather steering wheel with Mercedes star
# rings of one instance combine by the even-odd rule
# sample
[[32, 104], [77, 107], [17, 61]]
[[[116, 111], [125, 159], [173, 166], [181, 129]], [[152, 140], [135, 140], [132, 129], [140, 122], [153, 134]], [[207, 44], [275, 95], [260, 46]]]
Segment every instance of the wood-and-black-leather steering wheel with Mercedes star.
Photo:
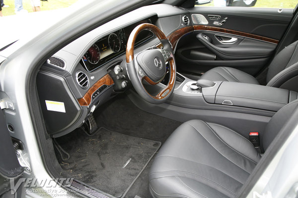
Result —
[[[163, 49], [147, 49], [134, 55], [136, 38], [142, 30], [149, 30], [155, 34], [163, 45]], [[169, 82], [156, 96], [151, 96], [144, 87], [143, 81], [150, 85], [156, 85], [162, 81], [166, 75], [166, 62], [169, 63]], [[173, 93], [176, 81], [174, 52], [164, 33], [155, 25], [143, 23], [132, 31], [127, 42], [126, 67], [136, 92], [146, 101], [160, 104]]]

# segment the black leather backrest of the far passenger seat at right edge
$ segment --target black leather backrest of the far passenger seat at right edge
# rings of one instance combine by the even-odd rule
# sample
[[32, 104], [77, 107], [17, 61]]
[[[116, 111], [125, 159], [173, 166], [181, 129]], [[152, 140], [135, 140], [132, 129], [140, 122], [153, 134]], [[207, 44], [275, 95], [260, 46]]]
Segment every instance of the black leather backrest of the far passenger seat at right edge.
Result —
[[[298, 41], [281, 50], [268, 67], [267, 86], [298, 91]], [[294, 86], [295, 85], [295, 86]]]

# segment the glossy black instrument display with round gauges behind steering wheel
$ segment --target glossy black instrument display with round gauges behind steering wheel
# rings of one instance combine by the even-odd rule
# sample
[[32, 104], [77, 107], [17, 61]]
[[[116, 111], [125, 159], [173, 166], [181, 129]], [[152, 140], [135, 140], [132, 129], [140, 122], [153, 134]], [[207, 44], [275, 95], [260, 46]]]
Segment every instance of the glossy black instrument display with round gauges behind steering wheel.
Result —
[[[138, 23], [120, 29], [117, 32], [111, 33], [110, 35], [95, 42], [81, 59], [81, 62], [85, 66], [86, 70], [93, 71], [104, 63], [107, 63], [125, 53], [127, 40], [131, 32], [136, 26], [142, 23], [151, 23], [151, 19], [149, 18], [139, 21]], [[140, 32], [135, 42], [135, 47], [149, 40], [153, 36], [153, 33], [150, 31], [144, 30]]]

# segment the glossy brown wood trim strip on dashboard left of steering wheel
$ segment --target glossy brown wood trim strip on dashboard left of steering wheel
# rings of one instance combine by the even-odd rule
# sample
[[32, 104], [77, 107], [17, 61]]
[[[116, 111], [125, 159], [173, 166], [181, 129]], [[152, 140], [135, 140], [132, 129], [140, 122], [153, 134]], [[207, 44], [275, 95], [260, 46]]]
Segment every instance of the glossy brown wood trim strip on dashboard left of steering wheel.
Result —
[[87, 93], [83, 96], [83, 98], [77, 99], [79, 105], [81, 106], [89, 106], [91, 103], [92, 94], [100, 88], [102, 85], [113, 85], [114, 81], [109, 74], [106, 74], [101, 79], [99, 79], [92, 87], [87, 91]]

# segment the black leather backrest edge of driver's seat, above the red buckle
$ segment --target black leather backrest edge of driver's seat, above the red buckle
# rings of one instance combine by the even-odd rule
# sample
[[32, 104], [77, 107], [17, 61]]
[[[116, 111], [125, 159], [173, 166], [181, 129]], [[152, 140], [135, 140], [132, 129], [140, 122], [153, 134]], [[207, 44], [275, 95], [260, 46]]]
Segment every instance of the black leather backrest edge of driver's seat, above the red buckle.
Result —
[[274, 116], [268, 122], [264, 132], [262, 141], [264, 150], [266, 150], [269, 147], [273, 139], [277, 136], [277, 134], [281, 131], [283, 126], [292, 116], [297, 106], [298, 99], [285, 105], [283, 108], [281, 108], [278, 112], [274, 114]]

